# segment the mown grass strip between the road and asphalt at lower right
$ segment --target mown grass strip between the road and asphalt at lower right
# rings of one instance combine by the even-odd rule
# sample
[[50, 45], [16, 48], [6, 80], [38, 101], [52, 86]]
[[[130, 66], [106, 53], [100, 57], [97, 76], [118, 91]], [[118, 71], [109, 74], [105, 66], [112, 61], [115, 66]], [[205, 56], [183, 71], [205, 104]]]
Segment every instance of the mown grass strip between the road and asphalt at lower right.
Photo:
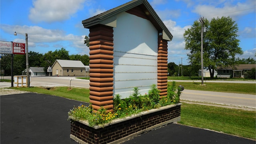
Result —
[[255, 140], [256, 111], [182, 103], [180, 124]]

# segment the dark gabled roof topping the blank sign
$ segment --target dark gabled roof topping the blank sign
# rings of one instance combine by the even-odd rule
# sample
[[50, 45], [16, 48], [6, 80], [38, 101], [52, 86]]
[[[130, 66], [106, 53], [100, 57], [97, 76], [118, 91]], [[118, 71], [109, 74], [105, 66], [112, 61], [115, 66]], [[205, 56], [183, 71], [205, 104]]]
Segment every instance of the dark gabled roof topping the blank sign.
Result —
[[116, 15], [121, 12], [128, 12], [130, 14], [150, 20], [156, 29], [159, 32], [162, 32], [163, 39], [168, 41], [172, 40], [172, 34], [147, 0], [132, 0], [126, 4], [83, 20], [82, 24], [84, 25], [84, 28], [91, 28], [97, 24], [116, 27]]

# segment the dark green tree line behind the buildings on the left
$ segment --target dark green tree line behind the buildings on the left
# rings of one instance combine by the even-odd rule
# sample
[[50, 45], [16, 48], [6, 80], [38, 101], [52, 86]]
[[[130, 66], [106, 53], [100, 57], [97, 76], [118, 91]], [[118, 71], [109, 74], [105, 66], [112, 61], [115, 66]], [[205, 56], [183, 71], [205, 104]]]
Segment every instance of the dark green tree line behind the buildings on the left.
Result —
[[[13, 59], [13, 74], [21, 75], [22, 71], [26, 69], [26, 55], [14, 54]], [[85, 66], [89, 65], [88, 55], [69, 55], [65, 48], [49, 51], [45, 54], [32, 51], [28, 52], [29, 67], [44, 67], [45, 72], [47, 72], [47, 68], [52, 66], [56, 60], [80, 60]], [[11, 54], [2, 54], [0, 68], [4, 70], [4, 76], [11, 75]]]

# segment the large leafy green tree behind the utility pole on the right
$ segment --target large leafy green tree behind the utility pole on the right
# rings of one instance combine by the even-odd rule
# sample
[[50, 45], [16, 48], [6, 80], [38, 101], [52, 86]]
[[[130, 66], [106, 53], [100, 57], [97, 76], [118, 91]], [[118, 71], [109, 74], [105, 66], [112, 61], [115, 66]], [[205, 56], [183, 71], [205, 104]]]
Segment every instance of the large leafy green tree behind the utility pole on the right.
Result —
[[[214, 70], [217, 66], [228, 67], [237, 64], [236, 54], [243, 54], [238, 46], [238, 26], [230, 17], [213, 18], [211, 22], [204, 20], [207, 32], [204, 33], [203, 63], [204, 68], [210, 70], [211, 78], [214, 78]], [[201, 36], [200, 22], [195, 21], [191, 28], [185, 31], [185, 49], [190, 50], [188, 59], [192, 65], [201, 65]]]

